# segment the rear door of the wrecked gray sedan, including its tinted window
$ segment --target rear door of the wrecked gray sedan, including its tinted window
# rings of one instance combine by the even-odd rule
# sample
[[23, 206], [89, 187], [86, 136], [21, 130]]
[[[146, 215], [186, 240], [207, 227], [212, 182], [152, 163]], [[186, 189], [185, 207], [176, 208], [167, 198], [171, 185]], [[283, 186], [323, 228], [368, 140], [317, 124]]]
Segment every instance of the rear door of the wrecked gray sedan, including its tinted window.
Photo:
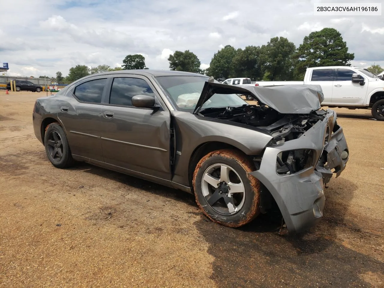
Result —
[[67, 91], [67, 96], [72, 97], [62, 98], [58, 113], [72, 154], [100, 162], [104, 161], [100, 119], [107, 81], [108, 76], [96, 76], [76, 83]]

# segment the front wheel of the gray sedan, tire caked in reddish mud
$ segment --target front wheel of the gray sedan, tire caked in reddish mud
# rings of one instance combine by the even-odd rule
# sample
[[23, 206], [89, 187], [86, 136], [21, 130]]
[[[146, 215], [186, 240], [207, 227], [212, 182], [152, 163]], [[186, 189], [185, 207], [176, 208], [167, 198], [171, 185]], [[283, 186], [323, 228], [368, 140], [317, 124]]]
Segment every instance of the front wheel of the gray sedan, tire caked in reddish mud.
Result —
[[[251, 222], [260, 214], [260, 181], [247, 174], [254, 170], [253, 162], [240, 151], [210, 152], [194, 171], [192, 184], [197, 205], [221, 225], [240, 227]], [[222, 171], [227, 176], [222, 176]]]

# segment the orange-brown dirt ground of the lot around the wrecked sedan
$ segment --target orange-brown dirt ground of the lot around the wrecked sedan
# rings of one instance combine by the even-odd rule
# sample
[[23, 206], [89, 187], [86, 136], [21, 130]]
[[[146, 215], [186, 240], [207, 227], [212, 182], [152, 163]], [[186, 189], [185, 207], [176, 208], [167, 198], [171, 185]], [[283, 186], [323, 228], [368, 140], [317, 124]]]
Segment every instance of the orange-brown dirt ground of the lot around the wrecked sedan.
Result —
[[205, 218], [192, 195], [54, 168], [32, 127], [45, 93], [0, 90], [0, 287], [384, 287], [384, 122], [335, 109], [350, 149], [318, 226]]

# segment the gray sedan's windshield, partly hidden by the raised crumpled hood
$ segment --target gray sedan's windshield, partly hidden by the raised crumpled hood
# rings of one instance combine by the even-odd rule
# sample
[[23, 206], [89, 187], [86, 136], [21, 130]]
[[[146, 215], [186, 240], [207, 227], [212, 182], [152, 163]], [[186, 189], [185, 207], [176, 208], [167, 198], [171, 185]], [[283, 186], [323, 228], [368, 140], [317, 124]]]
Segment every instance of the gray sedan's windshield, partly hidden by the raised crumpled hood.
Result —
[[[192, 113], [200, 98], [204, 83], [208, 80], [205, 76], [161, 76], [156, 80], [167, 92], [168, 98], [179, 111]], [[237, 94], [214, 94], [207, 100], [202, 109], [238, 107], [248, 104]]]

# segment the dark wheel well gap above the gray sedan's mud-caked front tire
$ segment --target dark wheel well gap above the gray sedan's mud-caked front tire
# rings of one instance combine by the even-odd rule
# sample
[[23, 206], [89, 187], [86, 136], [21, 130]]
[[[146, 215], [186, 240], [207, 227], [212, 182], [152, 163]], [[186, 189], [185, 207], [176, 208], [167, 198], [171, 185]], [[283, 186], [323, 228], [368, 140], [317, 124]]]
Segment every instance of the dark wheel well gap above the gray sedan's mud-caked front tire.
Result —
[[192, 156], [190, 157], [189, 160], [189, 168], [188, 168], [188, 178], [189, 178], [189, 185], [193, 191], [193, 185], [192, 185], [192, 178], [193, 178], [193, 173], [195, 171], [195, 167], [197, 163], [199, 163], [200, 159], [207, 155], [209, 152], [219, 150], [219, 149], [235, 149], [238, 151], [241, 151], [235, 146], [232, 146], [227, 143], [223, 142], [206, 142], [198, 146], [195, 151], [192, 153]]

